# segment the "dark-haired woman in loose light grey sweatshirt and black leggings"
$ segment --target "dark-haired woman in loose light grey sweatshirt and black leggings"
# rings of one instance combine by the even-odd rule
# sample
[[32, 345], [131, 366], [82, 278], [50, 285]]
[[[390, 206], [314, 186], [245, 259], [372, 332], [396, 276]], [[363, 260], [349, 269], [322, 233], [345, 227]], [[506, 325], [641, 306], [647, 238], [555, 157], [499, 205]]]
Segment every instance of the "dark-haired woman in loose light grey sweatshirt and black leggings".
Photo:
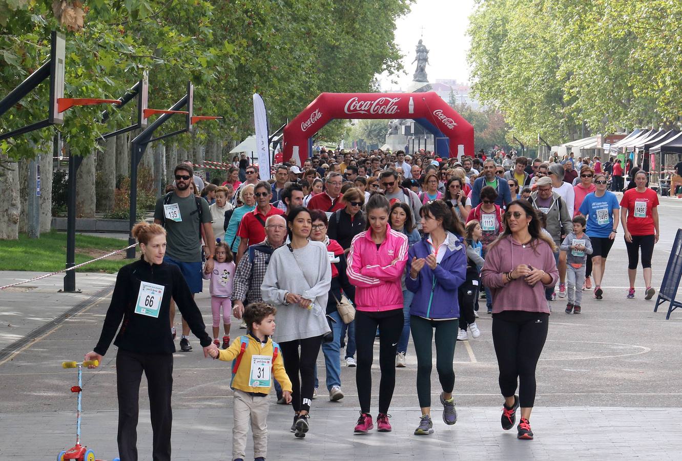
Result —
[[307, 208], [291, 209], [286, 222], [291, 243], [273, 252], [261, 293], [263, 301], [277, 308], [273, 339], [280, 343], [284, 368], [293, 385], [291, 404], [296, 414], [291, 432], [303, 438], [308, 432], [315, 361], [323, 336], [331, 331], [325, 318], [331, 264], [325, 244], [308, 240], [312, 220]]

